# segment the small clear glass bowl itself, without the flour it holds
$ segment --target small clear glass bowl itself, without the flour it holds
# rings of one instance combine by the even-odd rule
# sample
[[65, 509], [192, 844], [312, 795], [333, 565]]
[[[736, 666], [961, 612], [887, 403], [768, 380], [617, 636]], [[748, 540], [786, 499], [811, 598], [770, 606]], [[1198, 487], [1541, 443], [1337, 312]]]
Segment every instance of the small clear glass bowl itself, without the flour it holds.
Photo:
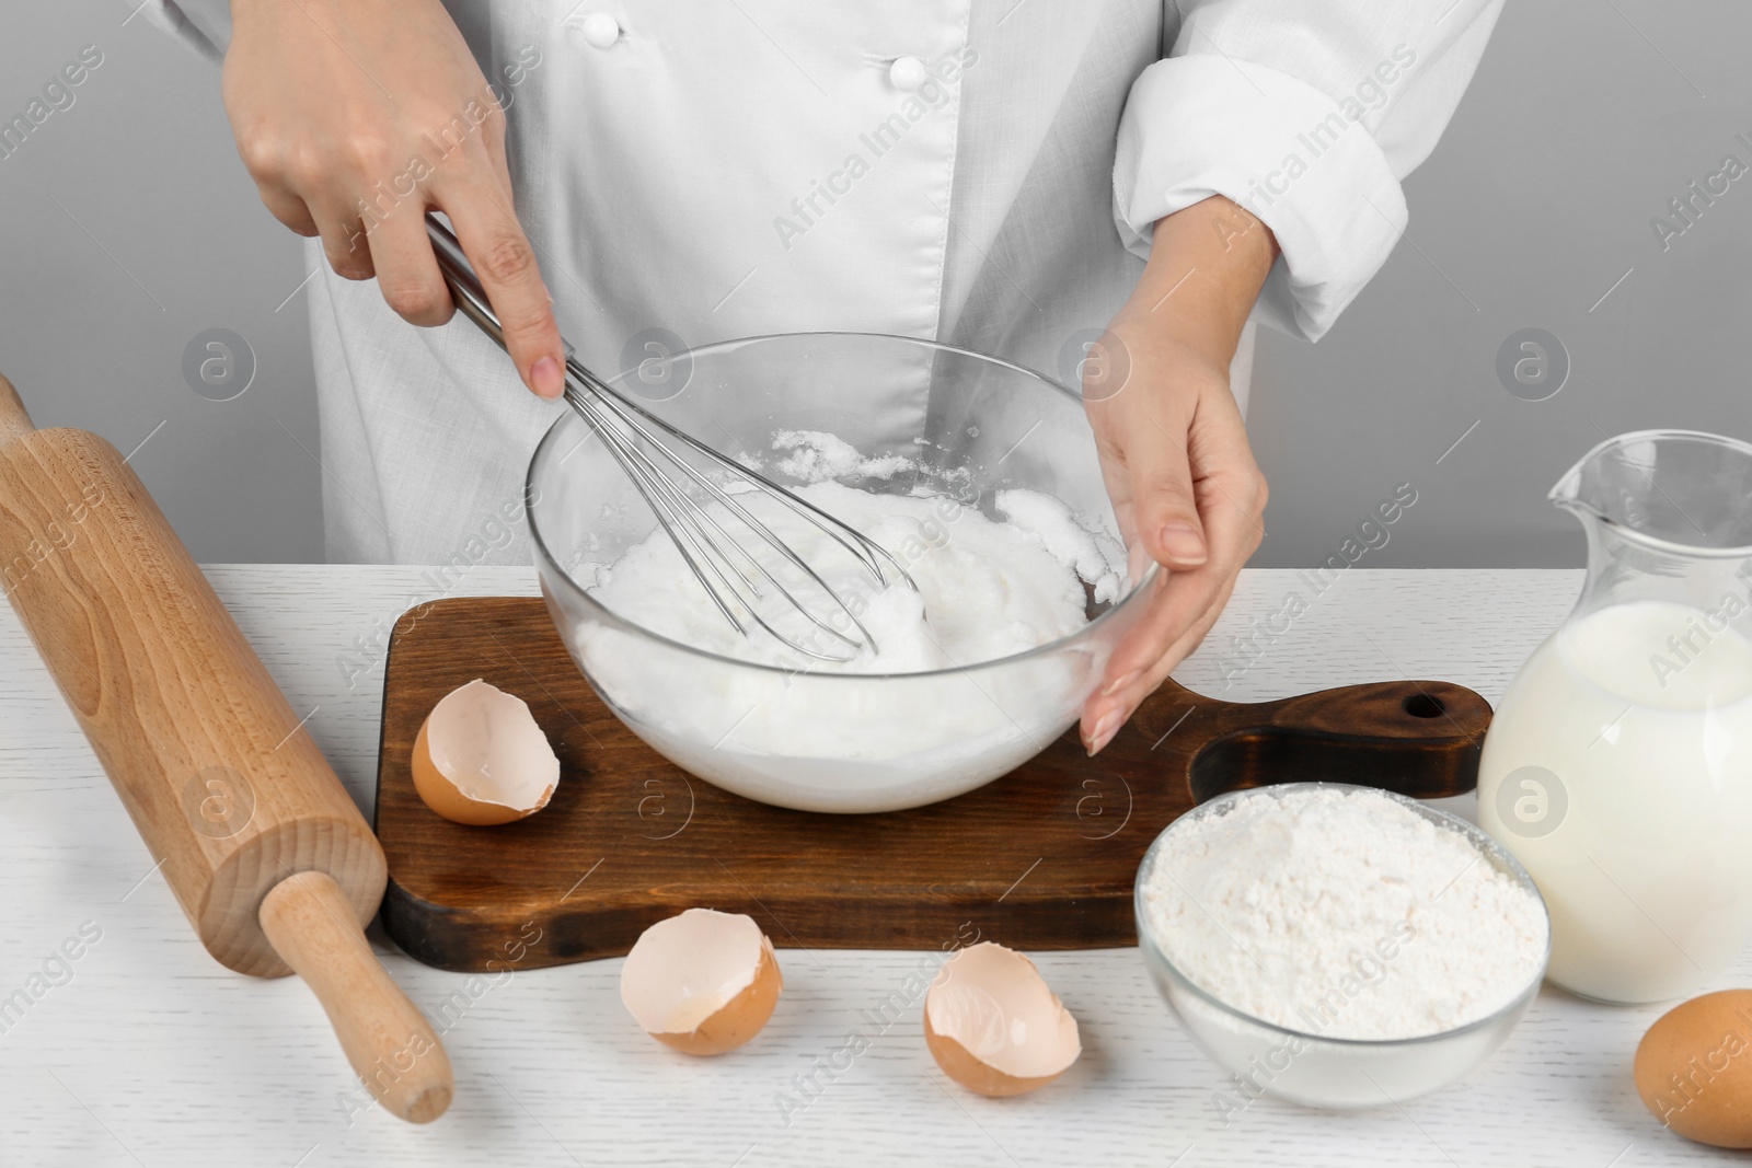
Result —
[[[1247, 788], [1218, 795], [1170, 823], [1144, 853], [1144, 862], [1137, 869], [1137, 884], [1132, 893], [1137, 914], [1137, 947], [1144, 954], [1144, 965], [1149, 968], [1156, 989], [1174, 1009], [1186, 1033], [1225, 1072], [1253, 1084], [1254, 1094], [1272, 1094], [1291, 1103], [1321, 1108], [1389, 1107], [1459, 1080], [1503, 1044], [1521, 1016], [1526, 1014], [1528, 1005], [1538, 996], [1540, 982], [1545, 979], [1545, 963], [1551, 960], [1551, 919], [1545, 919], [1545, 960], [1540, 961], [1538, 975], [1494, 1014], [1442, 1033], [1393, 1040], [1325, 1038], [1267, 1023], [1226, 1005], [1197, 986], [1169, 960], [1151, 926], [1149, 914], [1144, 911], [1142, 890], [1158, 856], [1174, 848], [1176, 832], [1183, 832], [1188, 823], [1226, 814], [1242, 799], [1281, 799], [1291, 792], [1318, 788], [1365, 790], [1349, 783], [1282, 783]], [[1465, 835], [1498, 872], [1512, 876], [1538, 900], [1540, 914], [1545, 916], [1545, 902], [1533, 884], [1533, 877], [1494, 839], [1459, 816], [1426, 807], [1416, 799], [1393, 792], [1382, 793], [1437, 827]], [[1247, 1089], [1242, 1089], [1240, 1084], [1225, 1082], [1218, 1084], [1218, 1089], [1233, 1101], [1235, 1108], [1246, 1108], [1251, 1103]]]

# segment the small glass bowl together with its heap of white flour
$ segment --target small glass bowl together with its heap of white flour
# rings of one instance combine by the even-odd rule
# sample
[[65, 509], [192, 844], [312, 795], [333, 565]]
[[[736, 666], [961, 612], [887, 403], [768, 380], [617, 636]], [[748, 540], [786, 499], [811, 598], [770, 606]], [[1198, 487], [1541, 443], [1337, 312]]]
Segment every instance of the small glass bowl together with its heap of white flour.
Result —
[[1225, 1126], [1261, 1096], [1393, 1107], [1482, 1063], [1538, 995], [1551, 918], [1480, 828], [1342, 783], [1232, 792], [1176, 820], [1135, 886], [1151, 979], [1223, 1070]]

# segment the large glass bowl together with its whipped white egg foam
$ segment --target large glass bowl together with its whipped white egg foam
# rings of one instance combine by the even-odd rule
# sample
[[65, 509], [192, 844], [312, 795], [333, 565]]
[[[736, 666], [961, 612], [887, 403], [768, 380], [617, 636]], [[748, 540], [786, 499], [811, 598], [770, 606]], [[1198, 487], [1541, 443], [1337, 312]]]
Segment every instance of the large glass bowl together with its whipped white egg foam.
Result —
[[585, 422], [554, 424], [527, 501], [561, 639], [634, 734], [738, 795], [895, 811], [1013, 770], [1076, 723], [1155, 585], [1155, 566], [1130, 580], [1083, 401], [1020, 366], [799, 333], [655, 355], [615, 385], [871, 536], [916, 581], [883, 588], [766, 510], [876, 651], [825, 664], [745, 637]]

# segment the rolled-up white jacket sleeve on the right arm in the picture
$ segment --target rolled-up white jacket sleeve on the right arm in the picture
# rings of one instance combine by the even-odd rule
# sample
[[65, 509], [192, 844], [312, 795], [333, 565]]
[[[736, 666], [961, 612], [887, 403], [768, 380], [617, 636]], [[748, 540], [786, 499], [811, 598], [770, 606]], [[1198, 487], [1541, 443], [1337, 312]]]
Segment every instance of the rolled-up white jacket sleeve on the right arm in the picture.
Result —
[[1503, 0], [1169, 0], [1170, 54], [1120, 119], [1114, 219], [1223, 194], [1277, 236], [1254, 319], [1318, 340], [1405, 231], [1400, 180], [1447, 126]]

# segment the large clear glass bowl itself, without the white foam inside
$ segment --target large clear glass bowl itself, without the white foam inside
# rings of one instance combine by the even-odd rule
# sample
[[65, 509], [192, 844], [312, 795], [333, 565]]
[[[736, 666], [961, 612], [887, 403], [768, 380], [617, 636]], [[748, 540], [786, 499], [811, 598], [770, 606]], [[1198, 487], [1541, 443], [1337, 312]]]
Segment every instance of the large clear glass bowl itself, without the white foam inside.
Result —
[[[841, 482], [941, 492], [950, 539], [957, 508], [993, 515], [993, 494], [1014, 487], [1118, 531], [1081, 398], [1004, 361], [904, 336], [795, 333], [655, 359], [615, 385], [731, 457], [760, 457], [787, 485], [771, 466], [778, 431], [827, 431], [865, 457], [913, 459], [918, 476]], [[1076, 721], [1144, 609], [1142, 588], [1091, 597], [1074, 634], [965, 669], [797, 672], [662, 637], [585, 590], [657, 520], [576, 413], [536, 448], [527, 501], [541, 594], [608, 707], [685, 770], [781, 807], [895, 811], [1013, 770]]]

